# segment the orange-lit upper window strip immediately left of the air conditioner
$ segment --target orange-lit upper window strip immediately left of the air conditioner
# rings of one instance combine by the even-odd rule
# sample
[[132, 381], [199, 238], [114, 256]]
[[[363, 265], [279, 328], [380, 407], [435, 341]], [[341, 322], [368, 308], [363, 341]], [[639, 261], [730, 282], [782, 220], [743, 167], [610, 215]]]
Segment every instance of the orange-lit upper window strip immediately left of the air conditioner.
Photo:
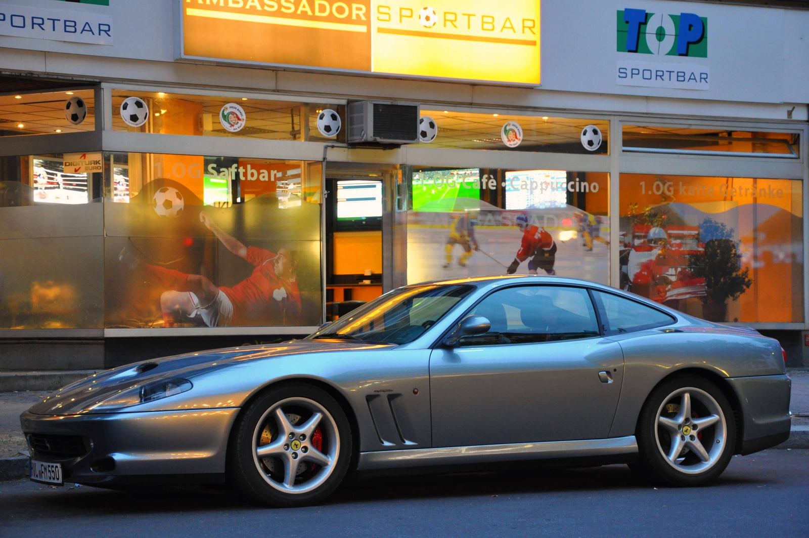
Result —
[[[136, 110], [132, 126], [125, 122], [121, 105], [137, 97], [146, 108]], [[236, 106], [229, 106], [229, 105]], [[167, 92], [112, 92], [112, 129], [140, 133], [235, 136], [270, 140], [318, 140], [345, 142], [345, 128], [327, 137], [317, 129], [317, 117], [333, 109], [345, 126], [345, 105], [324, 105], [253, 97], [212, 97]], [[148, 114], [146, 114], [148, 112]], [[302, 127], [301, 118], [307, 125]]]

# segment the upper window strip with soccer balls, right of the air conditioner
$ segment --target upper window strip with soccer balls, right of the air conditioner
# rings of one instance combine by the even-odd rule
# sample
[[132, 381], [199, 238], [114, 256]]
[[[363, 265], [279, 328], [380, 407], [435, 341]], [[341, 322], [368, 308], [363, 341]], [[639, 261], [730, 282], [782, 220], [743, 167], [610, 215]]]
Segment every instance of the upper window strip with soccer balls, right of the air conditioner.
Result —
[[[549, 116], [515, 116], [506, 113], [471, 113], [421, 110], [421, 139], [429, 147], [495, 149], [517, 152], [609, 153], [607, 120]], [[432, 124], [430, 123], [432, 120]], [[516, 123], [518, 129], [507, 126]], [[588, 126], [591, 129], [586, 129]], [[511, 133], [509, 138], [509, 133]], [[503, 137], [510, 139], [506, 146]]]

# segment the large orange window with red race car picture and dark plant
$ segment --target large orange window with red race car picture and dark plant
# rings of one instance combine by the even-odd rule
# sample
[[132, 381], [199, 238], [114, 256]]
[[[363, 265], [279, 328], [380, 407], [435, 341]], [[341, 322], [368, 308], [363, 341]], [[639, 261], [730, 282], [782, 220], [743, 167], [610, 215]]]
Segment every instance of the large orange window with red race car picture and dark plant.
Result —
[[803, 322], [803, 184], [621, 174], [621, 287], [715, 322]]

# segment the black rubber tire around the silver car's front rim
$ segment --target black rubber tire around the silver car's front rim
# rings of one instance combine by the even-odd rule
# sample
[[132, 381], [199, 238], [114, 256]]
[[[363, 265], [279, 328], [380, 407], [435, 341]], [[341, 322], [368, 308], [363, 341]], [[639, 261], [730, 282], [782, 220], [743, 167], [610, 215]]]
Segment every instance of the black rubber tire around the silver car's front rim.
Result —
[[[290, 493], [279, 490], [277, 485], [273, 486], [273, 483], [277, 484], [277, 482], [273, 482], [269, 468], [260, 463], [259, 459], [254, 458], [254, 438], [258, 431], [259, 421], [262, 421], [262, 417], [265, 417], [265, 414], [279, 402], [289, 399], [311, 400], [324, 408], [328, 412], [328, 416], [324, 416], [323, 420], [332, 420], [333, 427], [336, 429], [334, 437], [339, 440], [335, 451], [336, 456], [332, 463], [333, 468], [328, 477], [325, 477], [315, 489], [303, 493]], [[286, 412], [286, 408], [284, 411]], [[262, 423], [267, 423], [268, 420], [269, 418], [265, 417]], [[273, 438], [274, 441], [277, 439]], [[337, 489], [345, 477], [351, 460], [352, 442], [351, 427], [345, 412], [337, 400], [326, 391], [301, 382], [273, 386], [248, 404], [234, 425], [227, 455], [228, 480], [240, 493], [256, 502], [279, 507], [314, 505], [323, 501]], [[303, 447], [298, 450], [303, 451]], [[304, 456], [301, 455], [302, 463], [303, 458]], [[265, 459], [261, 460], [261, 462], [265, 461]]]

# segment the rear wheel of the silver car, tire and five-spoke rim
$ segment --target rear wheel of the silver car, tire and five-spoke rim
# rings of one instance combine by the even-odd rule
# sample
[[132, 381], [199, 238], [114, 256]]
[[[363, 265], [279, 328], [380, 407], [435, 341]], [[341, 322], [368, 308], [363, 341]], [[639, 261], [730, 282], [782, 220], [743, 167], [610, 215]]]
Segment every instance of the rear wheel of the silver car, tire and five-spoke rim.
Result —
[[652, 391], [637, 426], [633, 467], [673, 486], [705, 485], [730, 463], [733, 410], [714, 383], [695, 375], [671, 378]]

